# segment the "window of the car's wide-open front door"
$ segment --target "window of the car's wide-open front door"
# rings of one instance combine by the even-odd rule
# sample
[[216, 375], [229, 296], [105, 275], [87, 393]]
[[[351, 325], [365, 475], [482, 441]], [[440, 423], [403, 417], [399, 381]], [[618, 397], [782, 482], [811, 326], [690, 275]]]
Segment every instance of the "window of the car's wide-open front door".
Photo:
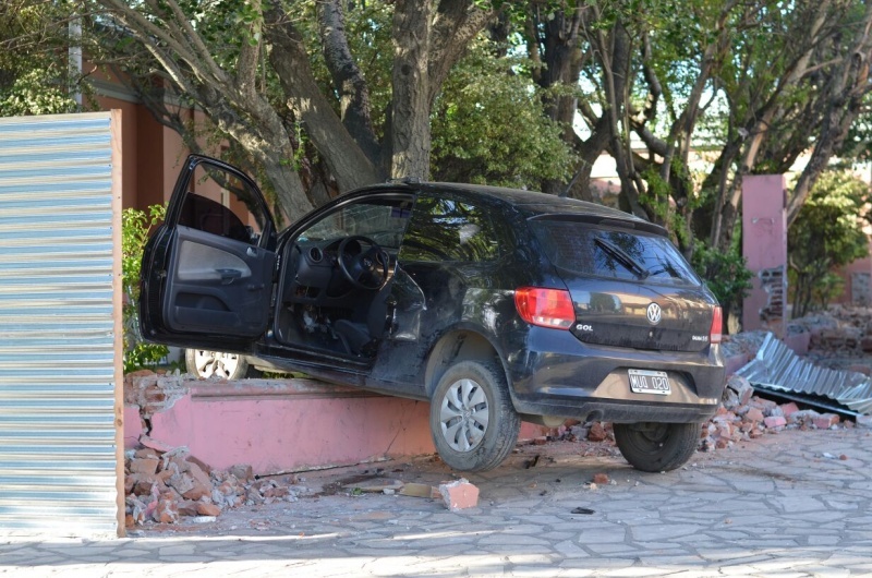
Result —
[[179, 225], [258, 245], [267, 215], [247, 182], [201, 162], [187, 182]]

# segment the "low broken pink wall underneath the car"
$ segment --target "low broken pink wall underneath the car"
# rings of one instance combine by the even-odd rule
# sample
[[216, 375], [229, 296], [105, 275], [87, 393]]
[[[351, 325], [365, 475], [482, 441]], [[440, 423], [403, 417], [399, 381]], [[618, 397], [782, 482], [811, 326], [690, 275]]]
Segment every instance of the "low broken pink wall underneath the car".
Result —
[[[143, 432], [138, 409], [128, 407], [125, 446], [135, 447], [147, 433], [168, 448], [186, 446], [218, 469], [247, 463], [269, 473], [435, 453], [423, 401], [308, 380], [187, 381], [144, 389], [140, 404], [152, 428]], [[524, 424], [521, 437], [542, 431]]]

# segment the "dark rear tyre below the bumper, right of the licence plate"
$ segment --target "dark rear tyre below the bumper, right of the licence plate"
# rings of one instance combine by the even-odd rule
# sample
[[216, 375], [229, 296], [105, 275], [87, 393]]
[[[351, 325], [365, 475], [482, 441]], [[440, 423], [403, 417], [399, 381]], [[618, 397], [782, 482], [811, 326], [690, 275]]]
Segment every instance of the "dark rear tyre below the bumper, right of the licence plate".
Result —
[[613, 429], [623, 458], [642, 471], [679, 468], [700, 443], [699, 423], [615, 423]]

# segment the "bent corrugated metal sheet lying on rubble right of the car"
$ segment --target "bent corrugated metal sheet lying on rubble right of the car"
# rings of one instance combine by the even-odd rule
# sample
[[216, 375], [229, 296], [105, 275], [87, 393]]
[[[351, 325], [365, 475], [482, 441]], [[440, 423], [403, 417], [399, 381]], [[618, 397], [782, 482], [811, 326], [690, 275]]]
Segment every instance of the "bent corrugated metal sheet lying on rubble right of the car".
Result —
[[766, 334], [754, 359], [736, 373], [756, 387], [823, 396], [858, 413], [872, 412], [869, 376], [814, 365], [794, 353], [773, 334]]

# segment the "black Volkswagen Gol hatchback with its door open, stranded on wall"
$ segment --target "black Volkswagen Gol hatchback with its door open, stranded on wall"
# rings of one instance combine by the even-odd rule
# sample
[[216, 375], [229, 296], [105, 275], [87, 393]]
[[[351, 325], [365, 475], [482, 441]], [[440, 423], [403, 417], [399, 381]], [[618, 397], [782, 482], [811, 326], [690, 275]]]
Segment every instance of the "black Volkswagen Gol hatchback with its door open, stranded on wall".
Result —
[[387, 183], [277, 231], [254, 182], [192, 155], [143, 261], [147, 339], [431, 401], [479, 471], [521, 420], [614, 423], [635, 468], [694, 451], [724, 388], [722, 314], [663, 228], [542, 193]]

